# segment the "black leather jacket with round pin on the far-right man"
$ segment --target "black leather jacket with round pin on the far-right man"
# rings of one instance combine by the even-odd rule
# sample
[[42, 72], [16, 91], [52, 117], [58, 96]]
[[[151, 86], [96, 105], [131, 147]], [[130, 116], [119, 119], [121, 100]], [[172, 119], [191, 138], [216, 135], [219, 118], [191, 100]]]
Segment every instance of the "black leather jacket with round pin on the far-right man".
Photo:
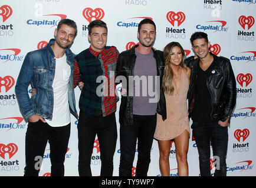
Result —
[[[211, 53], [211, 52], [210, 52]], [[211, 93], [212, 113], [211, 117], [214, 120], [224, 122], [230, 117], [232, 110], [235, 107], [237, 99], [236, 81], [229, 59], [222, 56], [214, 56], [214, 66], [212, 75], [206, 81], [209, 92]], [[199, 66], [199, 58], [194, 59], [194, 56], [185, 59], [185, 64], [191, 68], [191, 80], [188, 91], [189, 117], [193, 111], [193, 102], [195, 99], [195, 83], [197, 70]]]

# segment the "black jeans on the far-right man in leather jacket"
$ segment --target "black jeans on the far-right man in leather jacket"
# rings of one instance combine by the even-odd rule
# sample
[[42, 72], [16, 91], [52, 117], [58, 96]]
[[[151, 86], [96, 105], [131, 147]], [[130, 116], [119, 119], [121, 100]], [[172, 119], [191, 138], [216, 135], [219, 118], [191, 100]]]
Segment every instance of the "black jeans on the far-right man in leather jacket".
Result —
[[214, 125], [202, 125], [193, 122], [192, 129], [196, 146], [198, 147], [201, 176], [211, 176], [210, 142], [212, 154], [214, 159], [216, 159], [214, 176], [227, 176], [228, 127], [222, 127], [218, 122]]

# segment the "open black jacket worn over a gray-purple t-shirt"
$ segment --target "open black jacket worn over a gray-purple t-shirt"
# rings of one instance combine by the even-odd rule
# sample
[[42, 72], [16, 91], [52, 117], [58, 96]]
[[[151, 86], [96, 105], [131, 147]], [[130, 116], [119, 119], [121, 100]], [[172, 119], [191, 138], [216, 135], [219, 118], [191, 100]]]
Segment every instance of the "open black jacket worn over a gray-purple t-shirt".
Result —
[[[131, 49], [120, 53], [117, 59], [117, 75], [124, 76], [129, 80], [129, 76], [134, 76], [134, 65], [136, 61], [135, 48], [138, 45], [133, 46]], [[165, 61], [163, 61], [162, 51], [153, 51], [153, 56], [156, 59], [157, 65], [157, 76], [160, 76], [160, 99], [157, 103], [157, 113], [162, 115], [163, 120], [166, 119], [166, 102], [165, 95], [163, 94], [162, 86], [162, 76], [163, 70], [165, 69]], [[129, 84], [127, 84], [127, 93], [129, 93]], [[122, 96], [121, 105], [119, 110], [119, 123], [123, 125], [133, 125], [133, 97], [132, 96]]]

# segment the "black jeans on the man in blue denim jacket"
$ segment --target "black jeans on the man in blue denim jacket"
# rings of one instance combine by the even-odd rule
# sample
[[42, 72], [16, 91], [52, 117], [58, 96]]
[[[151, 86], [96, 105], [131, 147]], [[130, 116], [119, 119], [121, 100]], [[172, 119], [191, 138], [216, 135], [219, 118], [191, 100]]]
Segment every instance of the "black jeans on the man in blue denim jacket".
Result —
[[70, 138], [70, 123], [51, 127], [41, 120], [28, 122], [25, 137], [26, 166], [24, 176], [38, 176], [47, 141], [50, 144], [51, 176], [64, 176], [64, 161]]

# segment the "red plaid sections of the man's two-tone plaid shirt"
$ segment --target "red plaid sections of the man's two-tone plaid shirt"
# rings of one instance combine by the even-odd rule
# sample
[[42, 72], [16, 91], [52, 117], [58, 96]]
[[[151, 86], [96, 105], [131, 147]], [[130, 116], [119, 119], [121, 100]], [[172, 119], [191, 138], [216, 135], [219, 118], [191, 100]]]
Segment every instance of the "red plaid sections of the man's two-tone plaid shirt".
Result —
[[[107, 78], [107, 82], [104, 85], [104, 95], [101, 97], [101, 100], [103, 100], [103, 105], [101, 105], [102, 114], [103, 116], [107, 116], [116, 111], [116, 103], [118, 101], [118, 96], [116, 95], [116, 84], [114, 83], [114, 76], [116, 73], [116, 63], [119, 52], [114, 46], [111, 46], [110, 48], [104, 48], [101, 52], [96, 52], [90, 47], [89, 51], [96, 58], [100, 59], [103, 76]], [[79, 71], [78, 62], [75, 59], [74, 87], [76, 87], [78, 85], [78, 82], [80, 81], [81, 74]]]

